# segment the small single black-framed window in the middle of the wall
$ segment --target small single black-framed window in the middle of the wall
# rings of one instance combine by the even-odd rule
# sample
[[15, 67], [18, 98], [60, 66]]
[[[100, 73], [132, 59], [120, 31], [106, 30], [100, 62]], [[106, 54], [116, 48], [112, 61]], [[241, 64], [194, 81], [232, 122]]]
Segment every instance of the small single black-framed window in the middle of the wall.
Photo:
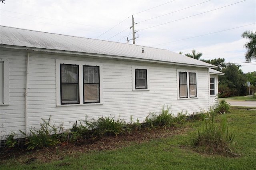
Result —
[[135, 87], [136, 89], [147, 89], [147, 70], [135, 69]]

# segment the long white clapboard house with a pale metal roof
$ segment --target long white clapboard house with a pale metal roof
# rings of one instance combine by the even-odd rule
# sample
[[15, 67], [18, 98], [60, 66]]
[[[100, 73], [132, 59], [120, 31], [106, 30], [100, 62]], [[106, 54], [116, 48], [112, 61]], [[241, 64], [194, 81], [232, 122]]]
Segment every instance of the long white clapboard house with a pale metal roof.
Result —
[[142, 122], [163, 106], [192, 114], [218, 91], [216, 66], [165, 49], [0, 29], [1, 139], [50, 115], [68, 129], [86, 116]]

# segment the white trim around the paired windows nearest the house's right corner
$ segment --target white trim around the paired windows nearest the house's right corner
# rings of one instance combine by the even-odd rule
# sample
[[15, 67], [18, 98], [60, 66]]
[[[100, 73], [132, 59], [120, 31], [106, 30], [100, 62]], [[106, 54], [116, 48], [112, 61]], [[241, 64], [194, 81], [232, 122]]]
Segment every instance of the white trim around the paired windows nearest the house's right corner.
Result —
[[[178, 100], [185, 100], [185, 99], [198, 99], [198, 72], [197, 70], [191, 69], [177, 69], [177, 98]], [[187, 92], [188, 97], [180, 98], [180, 82], [179, 82], [179, 72], [186, 72], [187, 73]], [[190, 97], [190, 89], [189, 89], [189, 73], [196, 73], [196, 97]]]

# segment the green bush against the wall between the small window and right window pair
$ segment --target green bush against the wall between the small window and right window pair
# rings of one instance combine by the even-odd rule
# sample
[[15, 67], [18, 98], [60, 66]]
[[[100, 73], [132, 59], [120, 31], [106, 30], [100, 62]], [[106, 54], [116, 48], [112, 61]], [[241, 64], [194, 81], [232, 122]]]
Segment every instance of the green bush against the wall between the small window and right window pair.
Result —
[[145, 122], [150, 124], [152, 127], [170, 127], [174, 124], [174, 117], [172, 113], [169, 113], [170, 107], [162, 108], [162, 113], [159, 115], [156, 112], [150, 113]]

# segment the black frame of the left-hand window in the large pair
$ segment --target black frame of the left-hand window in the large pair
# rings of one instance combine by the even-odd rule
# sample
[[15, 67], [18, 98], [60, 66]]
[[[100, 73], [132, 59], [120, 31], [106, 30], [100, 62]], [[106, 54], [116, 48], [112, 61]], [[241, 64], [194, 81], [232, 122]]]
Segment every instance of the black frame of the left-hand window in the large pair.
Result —
[[[77, 67], [77, 83], [62, 83], [62, 66], [76, 66]], [[62, 84], [77, 84], [77, 102], [63, 102], [62, 99]], [[80, 104], [80, 91], [79, 91], [79, 65], [76, 64], [60, 64], [60, 104], [61, 105], [71, 105]]]

